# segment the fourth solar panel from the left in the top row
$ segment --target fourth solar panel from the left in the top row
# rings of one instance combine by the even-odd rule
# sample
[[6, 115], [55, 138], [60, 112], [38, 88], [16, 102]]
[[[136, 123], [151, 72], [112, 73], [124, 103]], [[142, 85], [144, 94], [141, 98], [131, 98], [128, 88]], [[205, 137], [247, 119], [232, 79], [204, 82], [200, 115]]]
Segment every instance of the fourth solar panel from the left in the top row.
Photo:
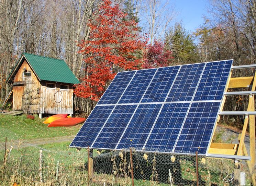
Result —
[[182, 65], [166, 101], [191, 101], [204, 65]]

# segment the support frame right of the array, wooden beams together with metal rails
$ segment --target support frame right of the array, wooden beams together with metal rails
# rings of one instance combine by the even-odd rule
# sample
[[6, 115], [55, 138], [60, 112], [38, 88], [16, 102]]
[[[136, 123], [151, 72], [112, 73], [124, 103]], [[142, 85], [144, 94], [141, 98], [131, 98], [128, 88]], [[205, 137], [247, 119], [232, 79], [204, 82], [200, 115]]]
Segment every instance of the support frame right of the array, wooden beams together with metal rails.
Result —
[[[256, 65], [242, 65], [242, 66], [233, 66], [234, 69], [247, 69], [247, 68], [256, 68]], [[242, 133], [238, 136], [239, 144], [225, 144], [225, 143], [214, 143], [211, 142], [210, 148], [208, 151], [209, 156], [220, 157], [220, 158], [231, 158], [233, 157], [235, 160], [235, 171], [234, 177], [237, 180], [236, 185], [240, 185], [240, 162], [239, 160], [246, 160], [250, 177], [253, 186], [256, 186], [256, 164], [255, 164], [255, 86], [256, 86], [256, 72], [254, 76], [249, 77], [234, 77], [231, 78], [231, 74], [227, 80], [225, 95], [221, 103], [221, 109], [218, 116], [217, 122], [220, 120], [220, 115], [245, 115], [244, 125]], [[240, 92], [228, 92], [229, 88], [244, 88], [249, 87], [250, 91], [240, 91]], [[230, 95], [248, 95], [249, 102], [247, 111], [233, 111], [233, 112], [223, 112], [223, 107], [225, 104], [226, 96]], [[249, 137], [250, 137], [250, 157], [248, 157], [248, 153], [244, 144], [246, 129], [249, 124]], [[216, 126], [216, 125], [215, 125]], [[215, 129], [214, 129], [215, 131]]]

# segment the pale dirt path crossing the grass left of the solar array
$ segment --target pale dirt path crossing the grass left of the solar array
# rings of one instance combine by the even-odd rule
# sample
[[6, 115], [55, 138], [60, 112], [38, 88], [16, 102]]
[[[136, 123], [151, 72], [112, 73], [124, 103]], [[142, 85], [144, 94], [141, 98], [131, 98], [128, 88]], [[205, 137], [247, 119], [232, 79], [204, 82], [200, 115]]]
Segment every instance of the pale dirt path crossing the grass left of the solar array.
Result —
[[[72, 136], [60, 136], [60, 137], [51, 137], [51, 138], [40, 138], [40, 139], [29, 139], [29, 140], [13, 140], [7, 142], [7, 148], [13, 146], [13, 149], [24, 148], [29, 146], [38, 146], [43, 144], [55, 143], [55, 142], [65, 142], [72, 141], [75, 135]], [[0, 150], [4, 150], [5, 143], [0, 143]]]

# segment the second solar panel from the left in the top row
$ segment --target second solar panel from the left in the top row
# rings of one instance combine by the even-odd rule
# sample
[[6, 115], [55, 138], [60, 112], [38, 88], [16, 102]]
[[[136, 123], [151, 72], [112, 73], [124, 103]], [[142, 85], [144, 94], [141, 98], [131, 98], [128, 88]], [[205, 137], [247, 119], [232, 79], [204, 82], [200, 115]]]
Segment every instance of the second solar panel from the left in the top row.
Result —
[[146, 69], [137, 71], [118, 103], [140, 102], [156, 70]]

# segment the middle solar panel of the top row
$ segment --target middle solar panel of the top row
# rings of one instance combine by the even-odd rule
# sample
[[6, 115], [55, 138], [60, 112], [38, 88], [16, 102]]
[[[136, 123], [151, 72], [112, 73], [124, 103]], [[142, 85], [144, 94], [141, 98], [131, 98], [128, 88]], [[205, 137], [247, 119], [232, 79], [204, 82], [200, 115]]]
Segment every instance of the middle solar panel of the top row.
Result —
[[159, 68], [149, 85], [142, 102], [163, 102], [171, 88], [180, 66]]

